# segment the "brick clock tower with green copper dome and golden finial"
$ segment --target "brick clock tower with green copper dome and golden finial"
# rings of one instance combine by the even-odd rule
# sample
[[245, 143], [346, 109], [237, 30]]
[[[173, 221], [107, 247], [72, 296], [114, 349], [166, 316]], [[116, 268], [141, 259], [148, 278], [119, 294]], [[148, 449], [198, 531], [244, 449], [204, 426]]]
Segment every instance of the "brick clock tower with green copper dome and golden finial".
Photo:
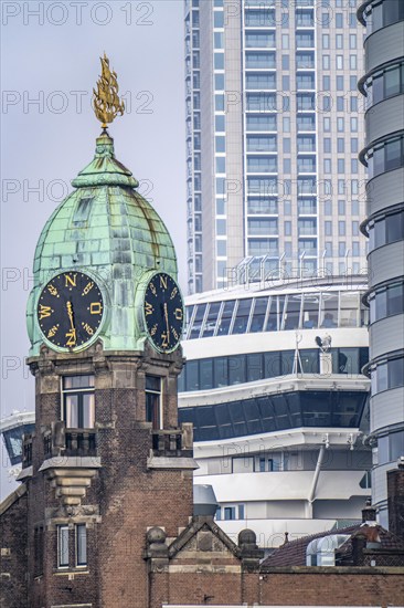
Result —
[[42, 230], [28, 302], [35, 431], [20, 481], [32, 608], [145, 608], [148, 530], [176, 537], [192, 514], [176, 252], [115, 157], [107, 124], [124, 104], [106, 56], [102, 70], [95, 157]]

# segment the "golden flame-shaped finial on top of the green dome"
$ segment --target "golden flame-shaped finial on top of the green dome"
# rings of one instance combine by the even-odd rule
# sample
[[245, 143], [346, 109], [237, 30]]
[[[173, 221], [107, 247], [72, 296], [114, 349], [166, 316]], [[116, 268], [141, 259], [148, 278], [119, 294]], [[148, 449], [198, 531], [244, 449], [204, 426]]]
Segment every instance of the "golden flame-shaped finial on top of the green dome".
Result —
[[97, 91], [93, 88], [93, 107], [96, 117], [102, 123], [103, 128], [107, 128], [118, 114], [123, 115], [125, 104], [118, 97], [118, 82], [116, 72], [109, 70], [109, 59], [104, 52], [102, 62], [102, 75], [97, 81]]

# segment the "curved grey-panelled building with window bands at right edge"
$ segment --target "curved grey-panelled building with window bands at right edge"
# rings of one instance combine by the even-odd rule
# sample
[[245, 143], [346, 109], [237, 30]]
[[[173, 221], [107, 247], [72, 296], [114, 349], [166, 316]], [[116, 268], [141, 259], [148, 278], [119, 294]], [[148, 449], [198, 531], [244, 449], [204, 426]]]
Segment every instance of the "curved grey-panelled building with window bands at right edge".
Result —
[[387, 526], [386, 471], [404, 454], [404, 2], [368, 0], [358, 10], [366, 27], [365, 146], [369, 237], [371, 434], [373, 504]]

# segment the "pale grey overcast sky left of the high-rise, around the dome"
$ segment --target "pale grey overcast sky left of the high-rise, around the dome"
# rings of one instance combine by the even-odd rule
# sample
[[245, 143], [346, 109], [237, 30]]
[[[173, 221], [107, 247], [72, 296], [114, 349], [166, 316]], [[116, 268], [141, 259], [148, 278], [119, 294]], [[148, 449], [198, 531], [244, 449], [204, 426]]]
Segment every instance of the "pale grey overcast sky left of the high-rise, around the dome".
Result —
[[4, 417], [34, 409], [23, 365], [33, 253], [71, 179], [94, 156], [100, 129], [91, 95], [99, 55], [109, 56], [128, 109], [109, 129], [116, 156], [168, 226], [184, 292], [185, 128], [182, 0], [2, 1], [1, 9]]

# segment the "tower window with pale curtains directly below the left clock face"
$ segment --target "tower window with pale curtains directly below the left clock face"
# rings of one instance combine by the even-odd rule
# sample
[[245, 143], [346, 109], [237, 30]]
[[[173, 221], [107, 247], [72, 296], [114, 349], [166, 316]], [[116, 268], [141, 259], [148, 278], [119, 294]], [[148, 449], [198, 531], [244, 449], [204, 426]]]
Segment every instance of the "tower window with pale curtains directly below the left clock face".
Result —
[[63, 420], [67, 429], [94, 428], [94, 376], [63, 378]]

